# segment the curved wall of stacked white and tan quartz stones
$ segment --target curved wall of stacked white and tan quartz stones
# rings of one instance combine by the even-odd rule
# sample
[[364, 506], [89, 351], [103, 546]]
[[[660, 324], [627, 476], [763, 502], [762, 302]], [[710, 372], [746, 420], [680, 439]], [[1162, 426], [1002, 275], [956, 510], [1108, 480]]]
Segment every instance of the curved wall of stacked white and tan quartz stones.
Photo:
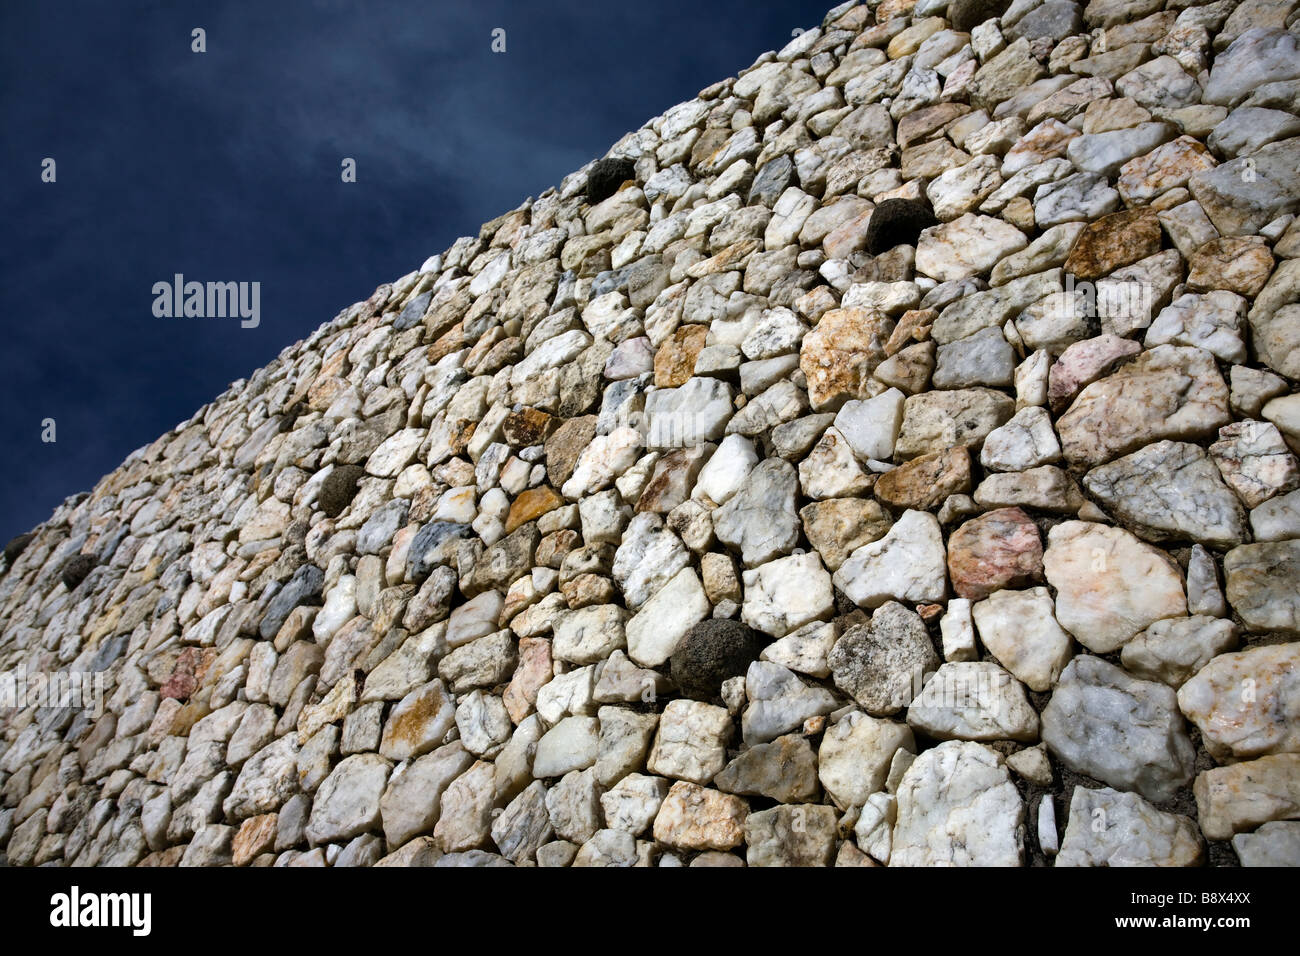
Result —
[[1296, 862], [1295, 8], [845, 4], [381, 285], [6, 548], [8, 862]]

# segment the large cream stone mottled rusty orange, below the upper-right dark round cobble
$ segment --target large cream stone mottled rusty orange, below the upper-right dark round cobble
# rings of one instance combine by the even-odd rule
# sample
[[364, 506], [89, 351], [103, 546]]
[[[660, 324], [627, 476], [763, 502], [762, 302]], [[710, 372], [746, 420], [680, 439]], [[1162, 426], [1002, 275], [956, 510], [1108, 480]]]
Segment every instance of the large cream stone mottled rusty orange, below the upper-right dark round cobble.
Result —
[[800, 350], [812, 407], [833, 411], [849, 399], [866, 398], [867, 380], [885, 359], [885, 342], [893, 330], [893, 320], [871, 308], [836, 308], [823, 315]]

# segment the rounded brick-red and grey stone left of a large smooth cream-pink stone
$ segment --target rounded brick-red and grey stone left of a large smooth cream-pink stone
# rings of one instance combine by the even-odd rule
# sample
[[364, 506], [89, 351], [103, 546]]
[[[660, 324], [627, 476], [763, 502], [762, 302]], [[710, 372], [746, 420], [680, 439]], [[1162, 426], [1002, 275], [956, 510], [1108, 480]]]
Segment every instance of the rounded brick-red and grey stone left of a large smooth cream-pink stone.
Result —
[[983, 601], [994, 591], [1024, 588], [1043, 578], [1043, 540], [1018, 507], [966, 522], [948, 538], [948, 576], [958, 597]]

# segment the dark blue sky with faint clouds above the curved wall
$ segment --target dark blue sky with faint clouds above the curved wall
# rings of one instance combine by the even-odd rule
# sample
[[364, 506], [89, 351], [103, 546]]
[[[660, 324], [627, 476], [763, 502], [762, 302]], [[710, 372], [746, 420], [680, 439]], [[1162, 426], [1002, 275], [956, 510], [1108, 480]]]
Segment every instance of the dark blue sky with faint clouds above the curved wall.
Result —
[[[831, 5], [5, 0], [0, 544]], [[156, 319], [177, 272], [260, 282], [260, 326]]]

